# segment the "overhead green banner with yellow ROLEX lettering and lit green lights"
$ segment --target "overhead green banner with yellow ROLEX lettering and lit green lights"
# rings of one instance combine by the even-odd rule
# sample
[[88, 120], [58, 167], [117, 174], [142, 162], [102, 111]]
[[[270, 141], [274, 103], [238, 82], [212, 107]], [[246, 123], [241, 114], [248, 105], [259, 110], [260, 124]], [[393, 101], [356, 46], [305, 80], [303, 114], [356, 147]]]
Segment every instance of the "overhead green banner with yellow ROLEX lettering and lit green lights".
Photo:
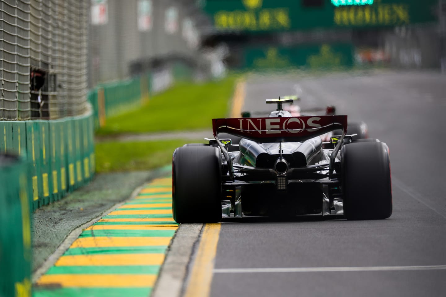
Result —
[[348, 0], [204, 0], [202, 3], [215, 27], [223, 31], [372, 28], [436, 20], [438, 0], [359, 1], [351, 5], [346, 5]]

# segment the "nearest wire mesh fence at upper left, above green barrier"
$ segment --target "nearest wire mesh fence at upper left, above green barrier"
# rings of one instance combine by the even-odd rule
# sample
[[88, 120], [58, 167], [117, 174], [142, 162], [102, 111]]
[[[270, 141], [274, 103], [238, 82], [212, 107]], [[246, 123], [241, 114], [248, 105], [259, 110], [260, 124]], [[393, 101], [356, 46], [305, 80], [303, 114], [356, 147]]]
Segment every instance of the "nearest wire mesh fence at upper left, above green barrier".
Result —
[[0, 0], [0, 119], [87, 110], [90, 0]]

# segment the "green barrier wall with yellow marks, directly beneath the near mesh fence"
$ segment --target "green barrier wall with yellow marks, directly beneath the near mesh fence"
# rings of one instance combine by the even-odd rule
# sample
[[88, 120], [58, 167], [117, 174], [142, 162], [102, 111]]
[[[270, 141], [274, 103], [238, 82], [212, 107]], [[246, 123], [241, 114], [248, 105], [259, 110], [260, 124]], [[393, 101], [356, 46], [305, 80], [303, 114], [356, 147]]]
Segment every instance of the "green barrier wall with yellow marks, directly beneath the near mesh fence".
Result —
[[0, 153], [27, 159], [32, 209], [57, 201], [95, 173], [94, 115], [60, 120], [1, 121]]

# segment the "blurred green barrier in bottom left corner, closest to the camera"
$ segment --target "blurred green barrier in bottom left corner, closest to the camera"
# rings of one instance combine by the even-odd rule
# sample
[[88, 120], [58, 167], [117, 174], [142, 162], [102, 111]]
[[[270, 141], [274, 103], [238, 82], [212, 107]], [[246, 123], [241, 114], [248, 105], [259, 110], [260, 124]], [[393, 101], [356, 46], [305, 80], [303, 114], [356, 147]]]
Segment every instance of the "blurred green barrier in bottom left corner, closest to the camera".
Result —
[[0, 296], [31, 296], [29, 168], [25, 158], [0, 153]]

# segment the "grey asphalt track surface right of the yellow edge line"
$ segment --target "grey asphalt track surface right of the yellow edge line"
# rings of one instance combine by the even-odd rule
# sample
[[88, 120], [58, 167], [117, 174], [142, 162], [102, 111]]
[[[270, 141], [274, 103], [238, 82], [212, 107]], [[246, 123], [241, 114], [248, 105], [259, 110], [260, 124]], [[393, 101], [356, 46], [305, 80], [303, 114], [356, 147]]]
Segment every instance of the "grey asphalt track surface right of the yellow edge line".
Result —
[[[335, 105], [338, 114], [365, 121], [370, 137], [388, 144], [393, 214], [366, 221], [225, 220], [211, 296], [445, 296], [446, 270], [438, 265], [446, 265], [446, 77], [256, 77], [247, 81], [243, 110], [270, 110], [265, 98], [296, 92], [302, 108]], [[366, 271], [370, 267], [378, 268]]]

